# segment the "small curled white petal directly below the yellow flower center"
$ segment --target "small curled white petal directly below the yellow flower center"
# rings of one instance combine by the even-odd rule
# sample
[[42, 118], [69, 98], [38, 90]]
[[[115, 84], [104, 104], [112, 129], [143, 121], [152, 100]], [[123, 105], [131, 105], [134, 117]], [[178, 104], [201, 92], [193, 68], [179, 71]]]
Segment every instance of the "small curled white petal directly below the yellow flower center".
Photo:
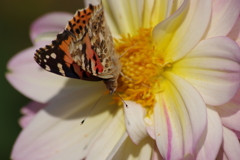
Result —
[[147, 136], [146, 124], [143, 121], [145, 109], [132, 101], [126, 101], [128, 107], [124, 107], [125, 125], [127, 132], [135, 144], [138, 144]]

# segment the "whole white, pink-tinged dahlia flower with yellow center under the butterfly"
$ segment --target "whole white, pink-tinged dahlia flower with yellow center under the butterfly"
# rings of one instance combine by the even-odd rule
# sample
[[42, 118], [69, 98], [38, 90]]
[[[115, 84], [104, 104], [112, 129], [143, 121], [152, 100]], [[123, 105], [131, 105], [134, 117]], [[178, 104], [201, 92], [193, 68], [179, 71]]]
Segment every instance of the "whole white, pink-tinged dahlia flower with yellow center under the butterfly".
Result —
[[103, 5], [115, 49], [124, 53], [116, 92], [128, 107], [104, 95], [79, 125], [106, 89], [102, 82], [48, 73], [34, 62], [35, 50], [72, 18], [47, 14], [31, 27], [34, 46], [8, 64], [9, 82], [43, 103], [38, 112], [28, 110], [34, 104], [25, 107], [12, 159], [238, 159], [240, 1]]

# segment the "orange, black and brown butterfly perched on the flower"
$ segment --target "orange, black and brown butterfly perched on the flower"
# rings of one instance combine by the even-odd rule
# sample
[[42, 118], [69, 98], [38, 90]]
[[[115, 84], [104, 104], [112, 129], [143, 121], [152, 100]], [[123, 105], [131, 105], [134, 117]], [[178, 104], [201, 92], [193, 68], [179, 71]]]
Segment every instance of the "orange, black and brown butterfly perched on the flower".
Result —
[[78, 10], [52, 44], [36, 50], [35, 61], [45, 70], [88, 81], [101, 81], [110, 94], [121, 72], [102, 3]]

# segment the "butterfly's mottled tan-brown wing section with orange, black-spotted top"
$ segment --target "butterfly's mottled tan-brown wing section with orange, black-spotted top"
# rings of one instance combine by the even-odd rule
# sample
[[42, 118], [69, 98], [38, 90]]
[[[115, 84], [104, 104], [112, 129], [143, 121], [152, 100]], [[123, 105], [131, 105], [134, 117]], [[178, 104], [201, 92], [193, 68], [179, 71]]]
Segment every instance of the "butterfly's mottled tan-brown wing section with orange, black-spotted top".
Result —
[[118, 57], [102, 4], [77, 11], [66, 29], [75, 35], [70, 54], [83, 70], [103, 79], [118, 77]]

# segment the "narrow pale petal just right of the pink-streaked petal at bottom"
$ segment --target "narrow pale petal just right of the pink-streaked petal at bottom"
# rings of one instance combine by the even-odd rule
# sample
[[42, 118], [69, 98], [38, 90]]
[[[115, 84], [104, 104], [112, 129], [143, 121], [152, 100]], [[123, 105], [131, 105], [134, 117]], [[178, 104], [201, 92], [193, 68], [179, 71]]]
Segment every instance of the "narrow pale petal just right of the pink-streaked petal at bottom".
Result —
[[203, 153], [197, 155], [198, 160], [214, 160], [222, 143], [223, 129], [220, 117], [212, 106], [208, 106], [207, 113], [208, 127], [205, 133], [206, 136], [203, 136], [199, 142], [199, 147]]

